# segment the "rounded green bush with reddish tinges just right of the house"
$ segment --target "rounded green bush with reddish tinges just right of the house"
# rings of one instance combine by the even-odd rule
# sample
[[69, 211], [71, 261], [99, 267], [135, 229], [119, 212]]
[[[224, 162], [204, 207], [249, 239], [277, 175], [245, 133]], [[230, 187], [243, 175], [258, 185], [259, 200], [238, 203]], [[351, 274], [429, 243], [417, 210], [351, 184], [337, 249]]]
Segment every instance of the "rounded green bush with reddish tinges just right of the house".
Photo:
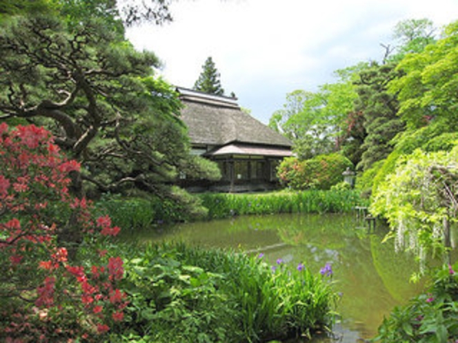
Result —
[[341, 154], [319, 155], [310, 160], [285, 158], [279, 165], [281, 183], [291, 189], [330, 189], [342, 181], [342, 173], [353, 165]]

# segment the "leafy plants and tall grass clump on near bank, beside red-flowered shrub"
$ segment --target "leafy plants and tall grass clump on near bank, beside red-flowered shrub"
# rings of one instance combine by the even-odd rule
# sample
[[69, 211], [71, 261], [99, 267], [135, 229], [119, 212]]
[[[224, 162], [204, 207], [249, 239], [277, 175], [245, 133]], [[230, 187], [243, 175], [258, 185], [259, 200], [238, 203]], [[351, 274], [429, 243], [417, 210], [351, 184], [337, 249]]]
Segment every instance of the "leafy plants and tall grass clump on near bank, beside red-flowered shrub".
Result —
[[148, 342], [263, 342], [332, 324], [330, 279], [235, 251], [131, 247], [124, 290], [130, 322], [117, 338]]

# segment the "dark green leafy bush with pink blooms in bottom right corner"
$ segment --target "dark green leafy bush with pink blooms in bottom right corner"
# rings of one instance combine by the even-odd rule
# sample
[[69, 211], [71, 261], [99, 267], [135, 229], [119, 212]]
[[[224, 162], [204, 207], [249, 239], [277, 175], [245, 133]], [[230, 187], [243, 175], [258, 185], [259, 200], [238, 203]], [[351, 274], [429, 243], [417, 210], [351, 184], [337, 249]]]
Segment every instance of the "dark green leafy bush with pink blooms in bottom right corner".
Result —
[[456, 342], [458, 340], [458, 276], [445, 265], [432, 287], [398, 306], [379, 327], [375, 342]]

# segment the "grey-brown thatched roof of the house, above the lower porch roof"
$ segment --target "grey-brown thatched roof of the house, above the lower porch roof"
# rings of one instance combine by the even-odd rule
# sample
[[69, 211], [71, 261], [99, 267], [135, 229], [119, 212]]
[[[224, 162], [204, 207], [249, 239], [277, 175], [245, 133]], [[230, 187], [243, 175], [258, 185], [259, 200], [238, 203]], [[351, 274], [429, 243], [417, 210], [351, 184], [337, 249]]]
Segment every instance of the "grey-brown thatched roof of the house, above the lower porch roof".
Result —
[[291, 142], [249, 114], [241, 111], [236, 98], [215, 96], [178, 87], [181, 119], [188, 126], [191, 143], [228, 145], [246, 143], [290, 149]]

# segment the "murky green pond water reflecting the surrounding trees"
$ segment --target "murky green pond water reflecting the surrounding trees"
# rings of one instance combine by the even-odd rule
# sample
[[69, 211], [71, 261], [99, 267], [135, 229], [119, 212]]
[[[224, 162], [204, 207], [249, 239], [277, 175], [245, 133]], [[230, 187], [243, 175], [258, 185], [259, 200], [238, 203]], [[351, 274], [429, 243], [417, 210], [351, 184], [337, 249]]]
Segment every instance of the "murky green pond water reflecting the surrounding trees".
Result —
[[315, 272], [330, 263], [341, 293], [341, 320], [334, 337], [312, 342], [361, 342], [377, 333], [394, 306], [423, 288], [409, 282], [418, 270], [414, 258], [395, 253], [392, 241], [382, 243], [385, 234], [385, 227], [369, 230], [353, 214], [279, 214], [179, 224], [137, 232], [135, 238], [264, 253], [272, 264], [278, 258], [294, 265], [303, 262]]

